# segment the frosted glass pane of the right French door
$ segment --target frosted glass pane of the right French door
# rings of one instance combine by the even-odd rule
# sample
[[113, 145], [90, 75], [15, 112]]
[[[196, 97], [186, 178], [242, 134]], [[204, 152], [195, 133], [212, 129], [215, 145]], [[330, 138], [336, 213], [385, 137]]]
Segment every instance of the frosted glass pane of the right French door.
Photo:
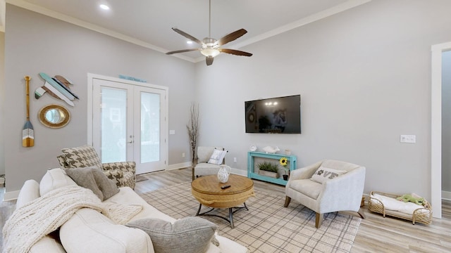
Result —
[[160, 160], [160, 95], [141, 92], [141, 162]]

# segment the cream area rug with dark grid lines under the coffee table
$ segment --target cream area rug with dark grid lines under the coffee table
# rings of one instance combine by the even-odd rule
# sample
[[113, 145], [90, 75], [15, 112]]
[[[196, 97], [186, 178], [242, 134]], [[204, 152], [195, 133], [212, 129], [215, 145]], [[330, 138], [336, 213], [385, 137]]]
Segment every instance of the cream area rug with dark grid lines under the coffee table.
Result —
[[[180, 219], [194, 216], [199, 208], [191, 195], [190, 182], [179, 183], [143, 193], [150, 205], [161, 212]], [[323, 223], [315, 228], [315, 213], [297, 204], [283, 207], [285, 197], [256, 192], [246, 205], [233, 214], [235, 228], [215, 216], [201, 216], [218, 225], [218, 234], [244, 245], [250, 252], [350, 252], [361, 219], [350, 214], [324, 214]], [[202, 211], [207, 207], [202, 207]], [[228, 217], [228, 209], [214, 214]]]

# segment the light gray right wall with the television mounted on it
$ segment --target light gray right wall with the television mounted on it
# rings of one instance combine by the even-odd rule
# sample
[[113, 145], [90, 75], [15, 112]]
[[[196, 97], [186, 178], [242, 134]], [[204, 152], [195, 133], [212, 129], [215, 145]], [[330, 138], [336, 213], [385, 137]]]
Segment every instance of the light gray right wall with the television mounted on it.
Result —
[[[196, 66], [199, 145], [223, 145], [246, 169], [251, 144], [299, 167], [366, 167], [365, 193], [431, 196], [431, 45], [451, 40], [451, 1], [371, 1]], [[301, 94], [302, 134], [245, 134], [245, 100]], [[416, 135], [415, 144], [400, 143]], [[237, 157], [237, 163], [233, 163]]]

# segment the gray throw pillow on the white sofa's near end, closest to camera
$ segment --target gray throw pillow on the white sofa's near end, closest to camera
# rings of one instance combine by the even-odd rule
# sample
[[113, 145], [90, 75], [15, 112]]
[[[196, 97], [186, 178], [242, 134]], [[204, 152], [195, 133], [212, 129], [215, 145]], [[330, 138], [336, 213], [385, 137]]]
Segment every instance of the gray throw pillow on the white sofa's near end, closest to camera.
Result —
[[198, 253], [206, 252], [211, 242], [219, 245], [214, 237], [218, 227], [199, 217], [186, 217], [174, 223], [161, 219], [139, 219], [125, 226], [139, 228], [149, 234], [155, 253]]

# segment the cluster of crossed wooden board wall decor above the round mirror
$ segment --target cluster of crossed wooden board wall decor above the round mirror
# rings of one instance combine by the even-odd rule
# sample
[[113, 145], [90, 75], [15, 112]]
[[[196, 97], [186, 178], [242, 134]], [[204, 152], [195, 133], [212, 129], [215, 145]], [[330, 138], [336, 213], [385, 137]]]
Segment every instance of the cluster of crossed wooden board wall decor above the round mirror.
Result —
[[44, 79], [44, 86], [39, 87], [35, 91], [35, 98], [39, 99], [44, 93], [49, 93], [55, 98], [61, 99], [70, 106], [74, 106], [73, 100], [78, 99], [78, 96], [70, 91], [70, 84], [72, 82], [64, 78], [61, 75], [56, 75], [55, 77], [49, 77], [46, 73], [39, 73], [39, 75]]

